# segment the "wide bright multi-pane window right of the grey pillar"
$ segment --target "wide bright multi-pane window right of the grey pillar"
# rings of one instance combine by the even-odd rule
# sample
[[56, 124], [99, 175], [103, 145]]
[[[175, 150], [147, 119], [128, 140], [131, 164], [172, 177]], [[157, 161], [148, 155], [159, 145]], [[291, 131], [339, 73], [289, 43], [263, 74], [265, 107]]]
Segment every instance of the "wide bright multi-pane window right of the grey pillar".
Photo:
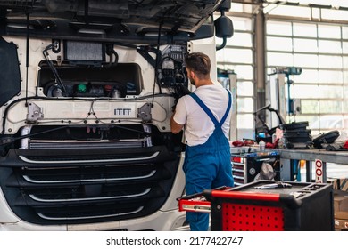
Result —
[[[268, 72], [274, 68], [302, 68], [301, 75], [290, 75], [289, 87], [290, 98], [301, 103], [301, 112], [287, 116], [287, 121], [309, 121], [312, 134], [334, 127], [348, 129], [348, 122], [344, 122], [348, 110], [348, 27], [269, 18], [266, 34]], [[339, 124], [336, 124], [337, 116]]]

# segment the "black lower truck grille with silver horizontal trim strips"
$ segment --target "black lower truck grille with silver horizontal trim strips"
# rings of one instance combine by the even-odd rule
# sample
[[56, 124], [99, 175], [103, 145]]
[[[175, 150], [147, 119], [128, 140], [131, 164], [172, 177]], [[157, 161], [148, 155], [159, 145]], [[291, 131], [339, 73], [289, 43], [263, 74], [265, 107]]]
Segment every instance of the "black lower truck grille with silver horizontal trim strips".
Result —
[[1, 188], [12, 211], [24, 221], [52, 225], [154, 213], [178, 168], [178, 157], [165, 146], [12, 149], [3, 162]]

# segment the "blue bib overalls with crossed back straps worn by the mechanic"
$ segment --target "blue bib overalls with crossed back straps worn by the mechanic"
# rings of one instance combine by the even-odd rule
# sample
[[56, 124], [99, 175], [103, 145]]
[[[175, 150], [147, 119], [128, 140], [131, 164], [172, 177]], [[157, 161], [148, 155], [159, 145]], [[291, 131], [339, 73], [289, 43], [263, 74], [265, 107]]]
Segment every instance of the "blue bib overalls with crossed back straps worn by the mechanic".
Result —
[[[191, 93], [190, 96], [211, 118], [215, 129], [205, 143], [186, 146], [183, 166], [186, 174], [186, 194], [192, 195], [204, 189], [215, 189], [221, 186], [233, 187], [230, 147], [221, 128], [231, 108], [231, 93], [228, 92], [228, 108], [220, 123], [195, 93]], [[193, 231], [206, 231], [209, 228], [209, 213], [187, 212], [186, 220], [190, 222], [190, 228]]]

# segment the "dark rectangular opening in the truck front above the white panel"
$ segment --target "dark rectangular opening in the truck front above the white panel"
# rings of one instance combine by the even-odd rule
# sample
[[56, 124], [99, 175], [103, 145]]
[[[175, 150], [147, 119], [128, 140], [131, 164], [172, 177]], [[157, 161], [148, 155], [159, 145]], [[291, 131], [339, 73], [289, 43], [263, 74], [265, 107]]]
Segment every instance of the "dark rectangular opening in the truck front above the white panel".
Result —
[[[62, 97], [61, 86], [56, 83], [46, 61], [40, 63], [38, 87], [47, 97]], [[55, 67], [65, 87], [64, 97], [125, 98], [138, 95], [143, 89], [141, 69], [136, 63], [105, 64], [103, 67]]]

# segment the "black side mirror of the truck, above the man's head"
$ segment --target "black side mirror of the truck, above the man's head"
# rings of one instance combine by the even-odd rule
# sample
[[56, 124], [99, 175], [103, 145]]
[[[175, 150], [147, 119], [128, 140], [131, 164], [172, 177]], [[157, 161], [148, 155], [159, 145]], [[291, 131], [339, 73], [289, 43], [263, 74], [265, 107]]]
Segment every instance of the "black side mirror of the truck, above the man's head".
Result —
[[222, 4], [220, 4], [219, 10], [221, 16], [214, 21], [215, 26], [215, 36], [222, 38], [223, 42], [219, 46], [216, 47], [216, 50], [220, 50], [225, 47], [227, 38], [233, 36], [234, 28], [232, 20], [230, 20], [227, 16], [225, 16], [225, 12], [231, 8], [231, 1], [225, 0]]

